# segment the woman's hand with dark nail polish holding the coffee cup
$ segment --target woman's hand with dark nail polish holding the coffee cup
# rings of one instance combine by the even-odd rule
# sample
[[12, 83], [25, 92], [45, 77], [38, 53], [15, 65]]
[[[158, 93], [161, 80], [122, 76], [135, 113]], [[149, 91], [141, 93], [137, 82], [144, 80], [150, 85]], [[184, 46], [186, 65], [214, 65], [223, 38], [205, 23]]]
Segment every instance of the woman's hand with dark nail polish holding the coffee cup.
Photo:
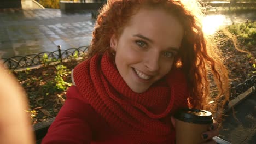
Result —
[[[172, 121], [173, 126], [175, 127], [175, 118], [171, 117], [171, 121]], [[219, 135], [218, 124], [219, 123], [217, 121], [213, 120], [213, 123], [208, 128], [208, 131], [205, 131], [204, 133], [202, 133], [202, 135], [201, 135], [202, 139], [207, 140], [207, 142], [205, 142], [205, 144], [216, 143], [216, 141], [214, 141], [212, 138], [214, 136]]]

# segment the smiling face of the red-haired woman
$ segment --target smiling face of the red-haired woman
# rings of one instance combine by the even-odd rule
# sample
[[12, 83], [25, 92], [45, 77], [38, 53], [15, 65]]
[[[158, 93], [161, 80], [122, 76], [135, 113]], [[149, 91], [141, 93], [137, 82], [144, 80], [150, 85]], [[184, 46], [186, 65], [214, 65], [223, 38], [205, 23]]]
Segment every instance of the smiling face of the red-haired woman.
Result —
[[162, 9], [140, 9], [123, 33], [110, 40], [115, 64], [132, 91], [143, 93], [172, 68], [179, 51], [183, 28]]

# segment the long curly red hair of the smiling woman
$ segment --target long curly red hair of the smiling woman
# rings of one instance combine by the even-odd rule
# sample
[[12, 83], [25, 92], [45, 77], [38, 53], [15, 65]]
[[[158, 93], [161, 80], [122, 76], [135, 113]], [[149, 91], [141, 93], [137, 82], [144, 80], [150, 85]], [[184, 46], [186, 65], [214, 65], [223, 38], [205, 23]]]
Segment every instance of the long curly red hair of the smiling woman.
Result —
[[228, 70], [216, 41], [202, 31], [202, 7], [196, 0], [108, 0], [97, 17], [88, 58], [106, 51], [110, 55], [110, 38], [119, 37], [140, 8], [165, 9], [182, 24], [185, 33], [173, 69], [186, 76], [189, 106], [216, 113], [229, 99]]

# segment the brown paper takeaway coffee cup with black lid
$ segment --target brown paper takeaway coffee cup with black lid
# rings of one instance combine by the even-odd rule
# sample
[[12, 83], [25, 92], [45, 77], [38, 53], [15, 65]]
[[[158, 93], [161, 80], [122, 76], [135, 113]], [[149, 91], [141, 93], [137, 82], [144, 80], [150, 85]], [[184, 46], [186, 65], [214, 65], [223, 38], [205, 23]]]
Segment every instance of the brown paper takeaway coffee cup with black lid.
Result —
[[213, 123], [212, 113], [198, 109], [180, 109], [175, 115], [176, 144], [205, 142], [201, 135]]

